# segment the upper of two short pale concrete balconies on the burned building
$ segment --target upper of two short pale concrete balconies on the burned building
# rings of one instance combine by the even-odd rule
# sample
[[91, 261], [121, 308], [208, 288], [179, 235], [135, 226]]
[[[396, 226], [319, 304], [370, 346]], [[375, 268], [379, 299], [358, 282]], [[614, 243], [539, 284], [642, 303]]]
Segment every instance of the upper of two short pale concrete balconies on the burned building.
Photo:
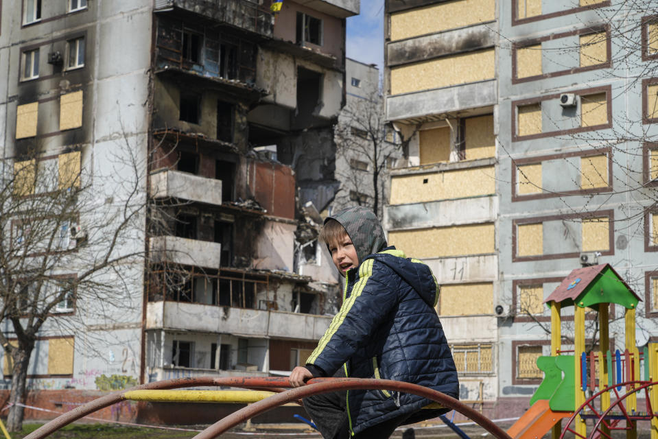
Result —
[[151, 175], [150, 195], [218, 205], [222, 204], [222, 180], [169, 169]]

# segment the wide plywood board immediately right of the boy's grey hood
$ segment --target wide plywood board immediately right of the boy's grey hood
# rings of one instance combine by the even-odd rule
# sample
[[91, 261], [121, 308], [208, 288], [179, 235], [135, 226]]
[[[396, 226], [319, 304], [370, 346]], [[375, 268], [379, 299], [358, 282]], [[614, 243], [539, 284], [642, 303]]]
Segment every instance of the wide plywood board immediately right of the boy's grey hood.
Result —
[[419, 258], [491, 254], [495, 252], [495, 226], [493, 224], [469, 224], [420, 230], [399, 230], [390, 232], [388, 240], [390, 245]]

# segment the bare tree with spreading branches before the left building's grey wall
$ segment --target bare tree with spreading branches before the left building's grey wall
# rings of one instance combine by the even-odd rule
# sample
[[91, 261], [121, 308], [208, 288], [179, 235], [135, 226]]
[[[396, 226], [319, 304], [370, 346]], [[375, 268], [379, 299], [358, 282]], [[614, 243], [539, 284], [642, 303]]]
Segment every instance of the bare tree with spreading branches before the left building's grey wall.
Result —
[[[143, 291], [146, 154], [128, 141], [94, 153], [52, 158], [34, 145], [0, 158], [0, 343], [11, 373], [10, 431], [22, 428], [40, 331], [75, 334], [141, 318], [134, 305]], [[87, 343], [93, 334], [85, 332]]]

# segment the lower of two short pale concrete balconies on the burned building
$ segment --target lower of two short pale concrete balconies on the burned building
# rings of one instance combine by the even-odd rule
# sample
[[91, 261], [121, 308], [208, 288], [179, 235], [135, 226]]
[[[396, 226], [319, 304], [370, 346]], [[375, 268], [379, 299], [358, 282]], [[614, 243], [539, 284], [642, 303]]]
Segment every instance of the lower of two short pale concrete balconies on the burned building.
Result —
[[176, 236], [150, 238], [152, 263], [179, 263], [203, 268], [219, 268], [222, 244]]

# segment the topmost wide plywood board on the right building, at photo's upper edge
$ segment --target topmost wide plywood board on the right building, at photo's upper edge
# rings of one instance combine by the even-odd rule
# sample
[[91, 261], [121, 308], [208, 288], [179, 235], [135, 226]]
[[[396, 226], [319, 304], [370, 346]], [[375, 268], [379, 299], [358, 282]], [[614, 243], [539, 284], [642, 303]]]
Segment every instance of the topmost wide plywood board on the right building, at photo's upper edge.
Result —
[[[465, 13], [468, 11], [468, 13]], [[447, 1], [390, 15], [391, 41], [496, 19], [495, 0]]]

